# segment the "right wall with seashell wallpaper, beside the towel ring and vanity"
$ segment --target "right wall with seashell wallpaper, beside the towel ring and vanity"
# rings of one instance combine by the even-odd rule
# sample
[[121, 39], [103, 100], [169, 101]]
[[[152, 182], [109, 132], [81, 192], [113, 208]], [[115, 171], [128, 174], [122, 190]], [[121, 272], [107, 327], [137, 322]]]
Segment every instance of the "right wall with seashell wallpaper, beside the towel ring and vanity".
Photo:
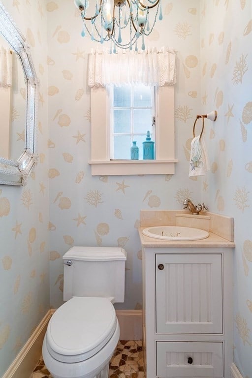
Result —
[[252, 377], [252, 2], [201, 1], [201, 97], [218, 110], [206, 130], [211, 211], [234, 217], [234, 362]]

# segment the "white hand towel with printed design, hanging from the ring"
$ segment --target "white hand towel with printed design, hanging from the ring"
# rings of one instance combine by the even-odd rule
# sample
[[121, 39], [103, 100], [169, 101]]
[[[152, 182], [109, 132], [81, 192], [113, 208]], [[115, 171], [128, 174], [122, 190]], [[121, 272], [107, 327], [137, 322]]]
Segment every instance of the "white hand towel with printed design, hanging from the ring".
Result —
[[203, 135], [195, 136], [191, 141], [190, 153], [190, 176], [205, 176], [206, 171], [209, 171], [209, 160], [206, 152], [206, 146]]

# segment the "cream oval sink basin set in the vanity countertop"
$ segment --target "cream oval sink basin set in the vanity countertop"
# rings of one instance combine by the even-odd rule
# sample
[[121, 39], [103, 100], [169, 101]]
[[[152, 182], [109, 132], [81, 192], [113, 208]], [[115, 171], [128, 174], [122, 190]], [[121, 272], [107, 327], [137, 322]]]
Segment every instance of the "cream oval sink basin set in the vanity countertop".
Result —
[[151, 238], [162, 240], [200, 240], [206, 239], [209, 233], [199, 228], [180, 226], [156, 226], [143, 229], [143, 234]]

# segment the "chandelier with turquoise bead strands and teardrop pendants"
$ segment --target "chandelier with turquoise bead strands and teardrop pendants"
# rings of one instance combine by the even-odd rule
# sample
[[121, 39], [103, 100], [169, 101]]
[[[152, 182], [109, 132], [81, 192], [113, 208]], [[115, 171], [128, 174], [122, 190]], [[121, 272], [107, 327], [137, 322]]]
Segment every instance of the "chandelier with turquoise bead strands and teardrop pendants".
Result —
[[[140, 0], [74, 0], [74, 3], [83, 20], [81, 35], [89, 35], [92, 41], [101, 44], [110, 41], [110, 53], [116, 53], [117, 47], [132, 50], [133, 45], [138, 51], [138, 40], [145, 50], [144, 36], [151, 34], [157, 18], [163, 18], [161, 0], [148, 0], [148, 5]], [[151, 20], [153, 8], [156, 13]]]

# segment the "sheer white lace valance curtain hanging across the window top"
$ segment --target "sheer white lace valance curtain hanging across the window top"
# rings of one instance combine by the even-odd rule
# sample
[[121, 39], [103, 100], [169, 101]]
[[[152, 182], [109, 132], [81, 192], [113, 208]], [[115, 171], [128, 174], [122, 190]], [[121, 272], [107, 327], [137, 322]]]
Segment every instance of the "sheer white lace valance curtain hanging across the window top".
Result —
[[88, 84], [104, 87], [107, 84], [174, 85], [176, 83], [176, 53], [162, 48], [144, 52], [123, 51], [110, 54], [91, 50]]

